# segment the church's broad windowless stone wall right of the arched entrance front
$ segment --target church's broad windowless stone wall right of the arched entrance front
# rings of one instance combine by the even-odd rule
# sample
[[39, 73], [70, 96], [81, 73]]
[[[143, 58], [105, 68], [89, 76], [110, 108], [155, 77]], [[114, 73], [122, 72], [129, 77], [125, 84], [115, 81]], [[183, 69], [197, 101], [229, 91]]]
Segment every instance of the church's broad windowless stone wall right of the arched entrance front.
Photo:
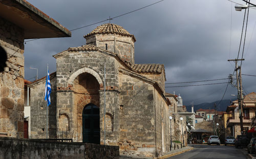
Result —
[[154, 87], [119, 73], [121, 155], [155, 156]]

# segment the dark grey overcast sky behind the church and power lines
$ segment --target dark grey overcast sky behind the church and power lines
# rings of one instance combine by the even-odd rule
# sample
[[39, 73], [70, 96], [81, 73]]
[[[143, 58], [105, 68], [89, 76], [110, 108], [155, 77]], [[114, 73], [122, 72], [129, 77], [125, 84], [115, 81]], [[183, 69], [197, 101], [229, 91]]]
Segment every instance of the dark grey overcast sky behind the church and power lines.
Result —
[[[27, 0], [69, 30], [87, 26], [158, 1], [152, 0]], [[244, 4], [242, 0], [234, 0]], [[256, 4], [256, 0], [251, 3]], [[234, 59], [238, 56], [244, 11], [234, 10], [227, 0], [165, 0], [156, 5], [111, 20], [136, 37], [135, 63], [160, 63], [165, 66], [166, 83], [227, 78], [233, 73]], [[256, 75], [256, 9], [249, 10], [247, 38], [242, 64], [242, 74]], [[103, 22], [104, 24], [106, 22]], [[72, 37], [47, 38], [25, 44], [25, 79], [33, 81], [38, 68], [38, 78], [56, 71], [52, 57], [69, 47], [86, 44], [83, 35], [101, 24], [72, 31]], [[231, 37], [231, 38], [230, 38]], [[231, 39], [231, 40], [230, 40]], [[26, 41], [26, 40], [25, 40]], [[242, 53], [241, 53], [242, 54]], [[241, 55], [240, 54], [240, 55]], [[240, 57], [241, 58], [241, 57]], [[255, 92], [256, 77], [242, 76], [247, 93]], [[180, 86], [227, 82], [166, 84]], [[226, 84], [166, 88], [166, 92], [180, 94], [183, 104], [189, 105], [220, 100]], [[233, 98], [237, 90], [228, 86], [224, 99]]]

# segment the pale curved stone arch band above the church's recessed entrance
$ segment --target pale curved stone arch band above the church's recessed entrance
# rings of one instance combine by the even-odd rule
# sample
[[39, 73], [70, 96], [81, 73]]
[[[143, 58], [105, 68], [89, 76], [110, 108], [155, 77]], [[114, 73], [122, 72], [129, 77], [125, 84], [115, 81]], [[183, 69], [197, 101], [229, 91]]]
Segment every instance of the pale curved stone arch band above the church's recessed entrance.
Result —
[[96, 78], [96, 80], [99, 82], [100, 87], [103, 86], [103, 82], [102, 82], [102, 79], [100, 78], [100, 75], [90, 67], [82, 67], [81, 69], [74, 72], [68, 79], [68, 84], [73, 84], [73, 81], [75, 80], [75, 78], [82, 73], [89, 73], [93, 75]]

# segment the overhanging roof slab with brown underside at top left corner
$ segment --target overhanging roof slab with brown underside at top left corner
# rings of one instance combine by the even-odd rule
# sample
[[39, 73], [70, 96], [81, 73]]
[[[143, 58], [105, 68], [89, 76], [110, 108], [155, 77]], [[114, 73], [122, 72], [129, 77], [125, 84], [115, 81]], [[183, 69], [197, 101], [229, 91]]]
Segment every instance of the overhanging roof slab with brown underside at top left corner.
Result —
[[23, 28], [25, 39], [71, 36], [68, 29], [25, 0], [1, 0], [0, 17]]

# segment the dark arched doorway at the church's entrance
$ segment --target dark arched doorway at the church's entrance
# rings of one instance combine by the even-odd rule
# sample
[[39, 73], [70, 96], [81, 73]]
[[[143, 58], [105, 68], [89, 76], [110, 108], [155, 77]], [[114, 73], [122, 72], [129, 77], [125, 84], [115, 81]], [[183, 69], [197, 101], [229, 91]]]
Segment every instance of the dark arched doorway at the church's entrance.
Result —
[[91, 103], [82, 111], [82, 141], [100, 144], [99, 107]]

